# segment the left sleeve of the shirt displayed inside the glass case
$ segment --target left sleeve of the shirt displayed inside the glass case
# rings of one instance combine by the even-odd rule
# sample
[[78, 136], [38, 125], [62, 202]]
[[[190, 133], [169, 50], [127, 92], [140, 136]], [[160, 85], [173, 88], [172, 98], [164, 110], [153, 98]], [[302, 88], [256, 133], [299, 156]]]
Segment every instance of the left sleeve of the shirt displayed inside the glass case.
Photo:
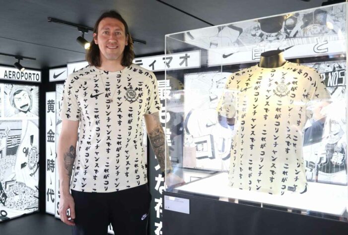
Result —
[[236, 91], [233, 91], [231, 86], [233, 84], [232, 78], [233, 74], [227, 79], [216, 108], [218, 115], [227, 118], [232, 118], [236, 114]]

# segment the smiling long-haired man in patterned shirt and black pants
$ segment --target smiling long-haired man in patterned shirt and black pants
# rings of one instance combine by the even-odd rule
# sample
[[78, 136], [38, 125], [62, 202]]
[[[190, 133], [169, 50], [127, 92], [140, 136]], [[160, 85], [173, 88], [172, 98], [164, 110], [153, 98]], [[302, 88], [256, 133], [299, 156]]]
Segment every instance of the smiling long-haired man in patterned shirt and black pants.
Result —
[[86, 57], [90, 65], [68, 76], [63, 93], [60, 217], [73, 225], [75, 235], [106, 235], [110, 223], [116, 234], [145, 235], [151, 195], [142, 148], [143, 116], [165, 170], [157, 81], [152, 72], [132, 64], [132, 38], [115, 11], [97, 20]]

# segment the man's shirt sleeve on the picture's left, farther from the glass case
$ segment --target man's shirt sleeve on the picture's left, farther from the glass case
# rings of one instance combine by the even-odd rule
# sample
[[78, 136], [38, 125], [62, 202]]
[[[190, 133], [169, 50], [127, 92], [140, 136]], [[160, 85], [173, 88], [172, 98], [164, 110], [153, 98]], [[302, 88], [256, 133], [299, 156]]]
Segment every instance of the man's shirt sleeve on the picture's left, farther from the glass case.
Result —
[[73, 76], [69, 75], [64, 83], [60, 116], [62, 119], [77, 121], [80, 120], [80, 109], [77, 104], [77, 95], [75, 89], [73, 88], [72, 79]]

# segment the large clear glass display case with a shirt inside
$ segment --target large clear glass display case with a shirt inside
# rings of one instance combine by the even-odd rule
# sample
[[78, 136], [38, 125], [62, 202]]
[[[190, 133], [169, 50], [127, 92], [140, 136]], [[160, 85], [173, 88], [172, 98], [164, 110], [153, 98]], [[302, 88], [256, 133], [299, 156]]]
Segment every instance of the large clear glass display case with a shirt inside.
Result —
[[339, 3], [166, 35], [166, 191], [347, 221], [346, 23]]

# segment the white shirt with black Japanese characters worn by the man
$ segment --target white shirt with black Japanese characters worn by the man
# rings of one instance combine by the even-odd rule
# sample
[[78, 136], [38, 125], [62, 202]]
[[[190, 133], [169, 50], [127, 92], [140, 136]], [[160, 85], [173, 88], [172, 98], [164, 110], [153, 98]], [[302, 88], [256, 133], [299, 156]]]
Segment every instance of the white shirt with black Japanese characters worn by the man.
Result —
[[155, 75], [136, 64], [118, 72], [86, 66], [70, 74], [61, 118], [80, 121], [70, 188], [114, 192], [146, 183], [142, 119], [160, 108]]

